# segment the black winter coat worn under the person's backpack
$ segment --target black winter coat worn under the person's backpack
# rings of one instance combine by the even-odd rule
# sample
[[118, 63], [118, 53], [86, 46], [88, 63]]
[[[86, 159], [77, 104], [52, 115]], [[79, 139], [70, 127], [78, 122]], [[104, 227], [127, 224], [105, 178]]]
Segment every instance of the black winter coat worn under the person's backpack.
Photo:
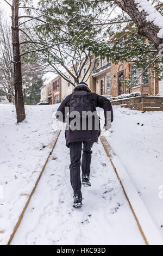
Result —
[[[75, 88], [74, 91], [76, 90], [84, 90], [86, 92], [90, 92], [89, 88], [86, 87], [77, 87], [77, 89]], [[106, 123], [106, 112], [110, 111], [111, 112], [111, 121], [113, 121], [113, 112], [112, 112], [112, 106], [111, 103], [108, 99], [106, 99], [103, 96], [100, 96], [96, 93], [90, 93], [91, 94], [91, 98], [93, 99], [93, 102], [95, 103], [95, 107], [101, 107], [104, 109], [104, 115], [105, 115], [105, 123]], [[68, 95], [65, 100], [61, 103], [61, 105], [59, 106], [58, 111], [60, 111], [64, 117], [64, 122], [66, 122], [65, 120], [65, 107], [69, 107], [70, 106], [70, 101], [72, 98], [72, 94]], [[58, 118], [58, 114], [56, 114], [56, 117]], [[79, 141], [90, 141], [90, 142], [98, 142], [98, 137], [100, 135], [100, 129], [99, 130], [74, 130], [72, 131], [71, 129], [67, 130], [65, 132], [65, 137], [66, 137], [66, 145], [68, 147], [68, 145], [72, 142], [79, 142]]]

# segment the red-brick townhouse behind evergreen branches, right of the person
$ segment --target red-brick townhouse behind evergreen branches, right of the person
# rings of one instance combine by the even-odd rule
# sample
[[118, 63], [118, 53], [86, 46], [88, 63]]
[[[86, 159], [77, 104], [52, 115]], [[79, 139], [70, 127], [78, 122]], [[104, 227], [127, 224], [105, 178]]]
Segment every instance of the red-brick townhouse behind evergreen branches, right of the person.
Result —
[[[133, 78], [138, 78], [139, 84], [128, 89], [122, 81], [123, 77], [129, 78], [130, 74]], [[96, 84], [93, 92], [99, 95], [110, 94], [116, 97], [127, 92], [141, 92], [142, 95], [163, 96], [163, 80], [158, 80], [152, 68], [135, 69], [134, 63], [131, 62], [114, 64], [107, 62], [106, 58], [98, 58], [92, 77], [95, 80], [91, 81], [93, 86]]]

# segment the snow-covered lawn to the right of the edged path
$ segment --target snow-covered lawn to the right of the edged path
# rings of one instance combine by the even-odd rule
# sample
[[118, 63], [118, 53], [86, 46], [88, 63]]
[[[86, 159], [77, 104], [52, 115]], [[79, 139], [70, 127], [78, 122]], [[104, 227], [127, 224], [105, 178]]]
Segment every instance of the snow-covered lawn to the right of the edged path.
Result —
[[163, 112], [114, 106], [112, 130], [109, 143], [163, 236]]

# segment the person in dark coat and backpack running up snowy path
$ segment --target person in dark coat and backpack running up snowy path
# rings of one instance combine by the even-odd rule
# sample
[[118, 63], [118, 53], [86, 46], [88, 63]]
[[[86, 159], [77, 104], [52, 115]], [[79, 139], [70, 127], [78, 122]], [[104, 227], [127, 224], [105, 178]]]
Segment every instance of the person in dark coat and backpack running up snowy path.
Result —
[[[96, 107], [104, 109], [104, 128], [109, 130], [111, 122], [113, 121], [110, 101], [103, 96], [92, 93], [86, 83], [80, 82], [78, 86], [74, 88], [73, 93], [68, 95], [61, 103], [56, 113], [56, 117], [60, 121], [67, 123], [68, 127], [65, 132], [65, 137], [66, 145], [70, 148], [70, 180], [74, 192], [74, 208], [82, 206], [82, 184], [84, 186], [91, 186], [89, 181], [91, 149], [93, 143], [98, 141], [100, 135], [99, 117], [96, 112]], [[68, 111], [65, 111], [65, 109], [68, 109]], [[62, 114], [62, 118], [60, 118], [60, 113]], [[93, 115], [90, 113], [93, 113]], [[80, 179], [81, 156], [82, 182]]]

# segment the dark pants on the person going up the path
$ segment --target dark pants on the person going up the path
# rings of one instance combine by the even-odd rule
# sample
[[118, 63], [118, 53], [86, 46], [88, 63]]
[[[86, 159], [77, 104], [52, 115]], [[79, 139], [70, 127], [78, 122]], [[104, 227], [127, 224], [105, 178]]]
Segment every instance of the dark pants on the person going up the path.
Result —
[[[83, 143], [83, 155], [82, 155]], [[74, 194], [81, 193], [80, 165], [82, 155], [82, 175], [90, 176], [90, 165], [93, 142], [73, 142], [70, 143], [70, 181]]]

